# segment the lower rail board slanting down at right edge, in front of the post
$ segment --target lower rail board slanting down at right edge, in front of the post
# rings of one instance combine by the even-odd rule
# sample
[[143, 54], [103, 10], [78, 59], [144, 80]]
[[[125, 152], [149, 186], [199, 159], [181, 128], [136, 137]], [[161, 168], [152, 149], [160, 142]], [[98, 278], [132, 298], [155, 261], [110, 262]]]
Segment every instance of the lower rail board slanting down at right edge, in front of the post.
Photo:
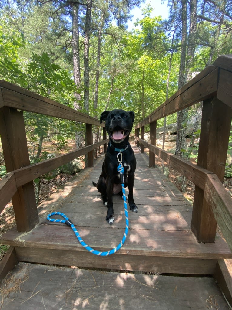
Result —
[[232, 200], [217, 175], [207, 175], [204, 197], [232, 251]]

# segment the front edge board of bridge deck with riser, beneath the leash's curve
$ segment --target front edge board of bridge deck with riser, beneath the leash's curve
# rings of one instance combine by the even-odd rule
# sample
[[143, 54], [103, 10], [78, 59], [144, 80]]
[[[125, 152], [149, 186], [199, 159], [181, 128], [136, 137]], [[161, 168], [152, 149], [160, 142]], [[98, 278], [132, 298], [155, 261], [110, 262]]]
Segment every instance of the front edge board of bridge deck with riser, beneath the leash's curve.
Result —
[[[107, 251], [121, 241], [124, 229], [78, 227], [92, 248]], [[79, 244], [65, 224], [39, 224], [31, 232], [6, 232], [1, 243], [15, 246], [19, 260], [120, 270], [167, 273], [213, 274], [217, 259], [231, 259], [226, 242], [198, 243], [191, 231], [129, 229], [123, 247], [114, 255], [99, 257]]]

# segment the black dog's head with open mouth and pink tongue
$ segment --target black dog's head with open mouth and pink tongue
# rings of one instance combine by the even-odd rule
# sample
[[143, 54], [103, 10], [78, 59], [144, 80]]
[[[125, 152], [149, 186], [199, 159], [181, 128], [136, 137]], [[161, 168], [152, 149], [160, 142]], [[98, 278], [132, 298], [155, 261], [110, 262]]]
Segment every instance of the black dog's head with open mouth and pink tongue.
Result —
[[114, 143], [121, 143], [126, 138], [126, 140], [129, 139], [134, 120], [135, 113], [133, 111], [127, 112], [121, 109], [104, 111], [100, 117], [100, 123], [105, 121], [105, 130]]

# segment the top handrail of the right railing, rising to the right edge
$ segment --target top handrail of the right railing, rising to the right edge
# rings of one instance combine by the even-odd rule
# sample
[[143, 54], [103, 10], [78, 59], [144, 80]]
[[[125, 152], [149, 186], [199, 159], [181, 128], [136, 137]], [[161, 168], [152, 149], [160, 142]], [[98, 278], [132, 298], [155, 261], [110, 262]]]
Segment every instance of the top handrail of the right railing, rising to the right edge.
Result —
[[[232, 55], [218, 57], [212, 66], [206, 67], [196, 75], [190, 82], [149, 114], [148, 117], [138, 123], [135, 129], [148, 125], [183, 108], [188, 108], [197, 102], [211, 98], [216, 93], [218, 93], [217, 98], [219, 100], [232, 107], [232, 89], [231, 85], [227, 86], [225, 77], [227, 81], [232, 79]], [[222, 100], [222, 98], [225, 100]]]

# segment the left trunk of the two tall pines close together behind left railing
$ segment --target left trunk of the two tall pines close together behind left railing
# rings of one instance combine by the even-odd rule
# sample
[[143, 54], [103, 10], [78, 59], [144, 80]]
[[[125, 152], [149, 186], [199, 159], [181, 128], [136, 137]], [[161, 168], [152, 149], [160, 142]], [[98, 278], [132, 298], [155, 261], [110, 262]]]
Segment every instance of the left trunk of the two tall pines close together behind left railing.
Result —
[[[74, 108], [76, 110], [82, 110], [81, 108], [81, 77], [80, 77], [80, 53], [79, 53], [79, 23], [78, 23], [78, 15], [79, 15], [79, 5], [73, 5], [72, 11], [72, 53], [73, 53], [73, 78], [74, 83], [76, 85], [77, 91], [75, 92], [75, 102]], [[77, 126], [79, 124], [77, 123]], [[84, 135], [83, 131], [75, 132], [75, 142], [76, 148], [84, 147]]]

